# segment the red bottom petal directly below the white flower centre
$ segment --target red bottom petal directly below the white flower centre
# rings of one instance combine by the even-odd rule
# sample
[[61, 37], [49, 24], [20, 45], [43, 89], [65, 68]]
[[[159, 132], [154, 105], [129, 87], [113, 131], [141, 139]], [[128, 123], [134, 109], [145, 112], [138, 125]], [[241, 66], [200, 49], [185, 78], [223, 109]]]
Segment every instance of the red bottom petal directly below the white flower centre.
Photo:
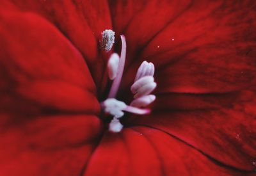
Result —
[[147, 127], [105, 134], [84, 175], [239, 175], [168, 134]]

